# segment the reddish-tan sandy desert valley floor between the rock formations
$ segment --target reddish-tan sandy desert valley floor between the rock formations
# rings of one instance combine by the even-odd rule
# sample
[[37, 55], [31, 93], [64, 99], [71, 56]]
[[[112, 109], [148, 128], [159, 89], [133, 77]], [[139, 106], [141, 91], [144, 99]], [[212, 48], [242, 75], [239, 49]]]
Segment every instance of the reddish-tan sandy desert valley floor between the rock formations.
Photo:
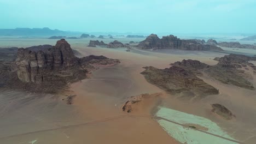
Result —
[[[130, 40], [120, 39], [123, 43]], [[48, 39], [1, 39], [0, 47], [53, 45], [55, 42]], [[256, 141], [255, 90], [226, 85], [203, 75], [200, 78], [219, 89], [219, 94], [203, 99], [184, 99], [148, 83], [141, 74], [143, 67], [164, 69], [183, 59], [214, 65], [218, 62], [213, 59], [226, 53], [141, 49], [127, 52], [124, 48], [88, 47], [89, 42], [85, 39], [68, 42], [82, 56], [103, 55], [119, 59], [121, 63], [97, 69], [90, 75], [91, 79], [72, 83], [68, 91], [60, 95], [1, 89], [0, 143], [179, 143], [159, 125], [155, 116], [160, 107], [210, 119], [241, 143]], [[256, 55], [256, 50], [238, 51]], [[248, 73], [252, 74], [251, 79], [256, 86], [253, 70], [249, 69]], [[161, 93], [161, 96], [147, 99], [134, 113], [121, 110], [129, 97], [147, 93]], [[62, 100], [66, 95], [76, 95], [72, 105]], [[226, 121], [213, 115], [211, 104], [214, 103], [228, 107], [236, 118]]]

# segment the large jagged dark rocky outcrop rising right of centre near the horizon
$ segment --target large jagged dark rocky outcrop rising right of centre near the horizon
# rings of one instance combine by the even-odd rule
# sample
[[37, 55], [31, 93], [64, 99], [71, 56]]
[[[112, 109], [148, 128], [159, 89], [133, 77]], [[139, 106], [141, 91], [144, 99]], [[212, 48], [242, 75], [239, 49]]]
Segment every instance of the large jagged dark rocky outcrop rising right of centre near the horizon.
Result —
[[174, 35], [168, 35], [166, 37], [162, 37], [160, 39], [158, 35], [151, 34], [149, 35], [146, 40], [141, 41], [138, 44], [138, 47], [142, 49], [179, 49], [179, 50], [198, 50], [198, 51], [222, 51], [217, 46], [203, 44], [200, 40], [181, 40]]

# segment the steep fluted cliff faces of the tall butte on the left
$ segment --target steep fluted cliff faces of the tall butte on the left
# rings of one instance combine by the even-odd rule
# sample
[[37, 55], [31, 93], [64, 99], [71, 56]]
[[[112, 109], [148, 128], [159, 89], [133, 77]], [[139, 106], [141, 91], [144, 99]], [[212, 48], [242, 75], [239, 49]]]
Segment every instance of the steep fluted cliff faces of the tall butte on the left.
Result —
[[53, 49], [38, 52], [28, 49], [19, 49], [16, 64], [18, 77], [21, 81], [40, 83], [45, 70], [65, 69], [78, 65], [79, 58], [65, 39], [57, 41]]

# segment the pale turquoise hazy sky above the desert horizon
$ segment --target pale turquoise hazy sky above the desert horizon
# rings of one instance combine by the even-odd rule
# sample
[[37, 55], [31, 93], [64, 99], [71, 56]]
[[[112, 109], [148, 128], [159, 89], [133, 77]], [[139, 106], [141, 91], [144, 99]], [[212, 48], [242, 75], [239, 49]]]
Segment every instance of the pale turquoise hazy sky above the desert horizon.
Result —
[[0, 28], [256, 33], [256, 0], [0, 0]]

